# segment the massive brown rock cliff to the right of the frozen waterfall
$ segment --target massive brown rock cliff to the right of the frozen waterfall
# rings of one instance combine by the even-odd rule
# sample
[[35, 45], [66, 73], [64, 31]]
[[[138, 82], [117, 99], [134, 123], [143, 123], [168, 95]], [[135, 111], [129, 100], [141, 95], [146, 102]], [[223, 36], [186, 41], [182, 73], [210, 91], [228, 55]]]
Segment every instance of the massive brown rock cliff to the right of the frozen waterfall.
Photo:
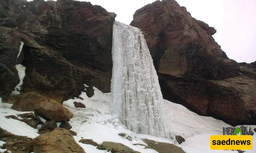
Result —
[[131, 25], [143, 31], [165, 99], [233, 125], [256, 123], [255, 64], [227, 58], [214, 28], [174, 0], [137, 10]]

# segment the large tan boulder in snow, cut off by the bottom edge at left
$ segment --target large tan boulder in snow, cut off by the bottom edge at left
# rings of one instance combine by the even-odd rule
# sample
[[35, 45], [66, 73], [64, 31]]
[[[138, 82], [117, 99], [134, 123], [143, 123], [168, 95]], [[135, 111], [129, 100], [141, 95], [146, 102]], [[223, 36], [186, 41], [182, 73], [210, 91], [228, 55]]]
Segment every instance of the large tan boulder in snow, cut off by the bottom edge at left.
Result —
[[41, 134], [33, 139], [35, 153], [85, 153], [72, 134], [63, 128]]

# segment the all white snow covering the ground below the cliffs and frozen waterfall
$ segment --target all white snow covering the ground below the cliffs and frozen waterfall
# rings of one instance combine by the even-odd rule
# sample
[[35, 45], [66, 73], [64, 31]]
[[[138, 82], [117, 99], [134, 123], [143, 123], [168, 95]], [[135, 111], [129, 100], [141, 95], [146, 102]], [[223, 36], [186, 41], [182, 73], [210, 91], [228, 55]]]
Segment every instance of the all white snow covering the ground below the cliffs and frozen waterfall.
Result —
[[[131, 132], [121, 122], [113, 117], [110, 113], [111, 107], [111, 94], [102, 93], [94, 87], [94, 96], [89, 98], [86, 93], [80, 95], [82, 99], [69, 99], [63, 102], [72, 113], [74, 118], [69, 121], [72, 125], [73, 131], [77, 133], [74, 136], [78, 142], [82, 137], [93, 139], [98, 144], [103, 141], [119, 142], [133, 150], [142, 153], [157, 153], [153, 149], [145, 149], [141, 145], [144, 144], [142, 139], [147, 138], [159, 142], [168, 142], [180, 146], [187, 153], [237, 153], [231, 150], [211, 150], [210, 149], [210, 136], [222, 135], [222, 126], [229, 126], [226, 123], [214, 119], [212, 117], [203, 117], [189, 111], [184, 106], [164, 100], [164, 108], [169, 131], [174, 135], [181, 135], [185, 138], [185, 142], [177, 144], [174, 140], [167, 140], [154, 136], [136, 134]], [[86, 108], [75, 108], [74, 101], [83, 103]], [[5, 107], [5, 108], [4, 108]], [[14, 134], [29, 136], [34, 138], [38, 136], [37, 130], [15, 119], [7, 119], [6, 115], [16, 115], [24, 112], [10, 109], [6, 104], [0, 105], [0, 126]], [[15, 128], [14, 128], [15, 127]], [[19, 128], [17, 128], [19, 127]], [[256, 128], [256, 126], [251, 126]], [[125, 133], [132, 138], [132, 140], [125, 139], [118, 134]], [[256, 139], [256, 134], [253, 135]], [[88, 153], [105, 153], [104, 150], [96, 149], [96, 146], [86, 145], [78, 142], [84, 150]], [[246, 150], [246, 153], [256, 152], [256, 143], [253, 144], [253, 150]]]

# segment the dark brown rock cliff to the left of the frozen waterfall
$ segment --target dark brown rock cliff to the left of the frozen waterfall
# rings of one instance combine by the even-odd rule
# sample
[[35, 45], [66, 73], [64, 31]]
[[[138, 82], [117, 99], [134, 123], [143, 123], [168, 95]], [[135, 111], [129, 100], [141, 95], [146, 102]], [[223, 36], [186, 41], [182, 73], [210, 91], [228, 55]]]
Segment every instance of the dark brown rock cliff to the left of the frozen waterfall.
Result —
[[62, 102], [78, 97], [85, 83], [89, 96], [92, 86], [110, 91], [114, 13], [74, 0], [4, 0], [0, 12], [1, 97], [19, 82], [16, 64], [26, 66], [21, 93]]

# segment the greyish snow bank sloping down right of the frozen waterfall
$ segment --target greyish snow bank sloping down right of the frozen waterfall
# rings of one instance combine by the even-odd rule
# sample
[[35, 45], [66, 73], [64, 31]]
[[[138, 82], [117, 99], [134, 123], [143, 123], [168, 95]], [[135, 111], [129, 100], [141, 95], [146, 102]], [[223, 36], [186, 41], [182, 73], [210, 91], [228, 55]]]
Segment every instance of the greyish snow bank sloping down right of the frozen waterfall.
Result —
[[175, 135], [188, 137], [207, 131], [222, 134], [222, 127], [230, 126], [221, 120], [197, 115], [177, 103], [164, 100], [164, 106], [169, 130]]

